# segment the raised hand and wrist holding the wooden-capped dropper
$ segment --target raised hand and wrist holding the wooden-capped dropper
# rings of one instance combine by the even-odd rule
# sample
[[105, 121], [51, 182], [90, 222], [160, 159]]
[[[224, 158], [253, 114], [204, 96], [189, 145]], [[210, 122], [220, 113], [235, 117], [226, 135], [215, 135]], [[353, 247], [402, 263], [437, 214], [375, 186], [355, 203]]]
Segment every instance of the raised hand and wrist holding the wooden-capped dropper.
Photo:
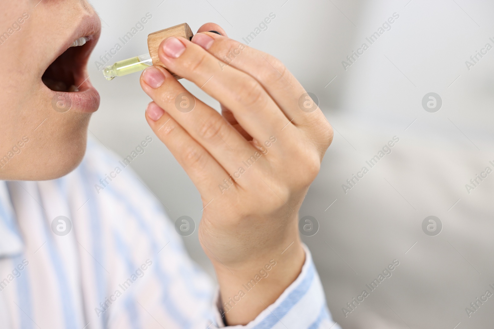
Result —
[[[218, 100], [223, 115], [183, 94], [187, 90], [162, 67], [146, 69], [141, 86], [153, 99], [149, 125], [201, 193], [199, 239], [222, 300], [241, 298], [225, 308], [228, 324], [247, 324], [300, 273], [305, 254], [298, 210], [333, 134], [279, 60], [208, 30], [224, 34], [208, 23], [192, 41], [164, 40], [159, 56]], [[243, 285], [271, 259], [276, 266], [247, 292]]]

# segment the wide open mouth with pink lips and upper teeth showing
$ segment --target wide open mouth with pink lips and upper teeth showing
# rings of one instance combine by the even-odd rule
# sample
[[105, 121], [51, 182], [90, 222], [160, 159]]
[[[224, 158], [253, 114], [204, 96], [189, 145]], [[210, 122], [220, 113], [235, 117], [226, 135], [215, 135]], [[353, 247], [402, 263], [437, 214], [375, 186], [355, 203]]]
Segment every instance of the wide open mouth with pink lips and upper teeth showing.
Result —
[[99, 107], [100, 97], [89, 81], [86, 65], [100, 32], [101, 23], [97, 16], [85, 18], [73, 37], [60, 47], [57, 57], [41, 77], [43, 84], [50, 89], [52, 99], [70, 101], [71, 110], [94, 112]]

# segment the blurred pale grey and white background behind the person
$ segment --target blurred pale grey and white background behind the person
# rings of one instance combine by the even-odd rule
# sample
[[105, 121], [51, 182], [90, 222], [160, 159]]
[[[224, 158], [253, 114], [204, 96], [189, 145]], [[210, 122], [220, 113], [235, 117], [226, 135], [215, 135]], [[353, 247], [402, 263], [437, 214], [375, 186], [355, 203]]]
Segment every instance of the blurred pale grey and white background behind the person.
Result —
[[[466, 307], [494, 292], [494, 174], [468, 193], [465, 184], [494, 169], [494, 2], [487, 0], [98, 0], [103, 32], [89, 73], [101, 94], [90, 135], [119, 156], [153, 132], [144, 119], [150, 101], [139, 74], [107, 81], [95, 61], [146, 15], [152, 19], [112, 59], [146, 53], [147, 35], [187, 22], [221, 25], [242, 41], [274, 13], [268, 29], [249, 46], [281, 59], [335, 128], [333, 144], [312, 184], [300, 217], [313, 216], [317, 234], [303, 237], [323, 281], [333, 318], [344, 329], [492, 328], [494, 297], [475, 313]], [[370, 44], [370, 37], [399, 18]], [[493, 37], [493, 40], [489, 38]], [[243, 41], [245, 42], [245, 41]], [[367, 43], [346, 70], [342, 61]], [[485, 51], [484, 51], [485, 52]], [[356, 58], [356, 57], [355, 57]], [[218, 103], [189, 81], [196, 97]], [[422, 107], [427, 93], [442, 107]], [[399, 142], [351, 190], [342, 184], [394, 136]], [[296, 159], [294, 159], [296, 161]], [[199, 193], [166, 147], [154, 139], [132, 162], [171, 220], [201, 219]], [[330, 206], [330, 207], [329, 207]], [[439, 235], [422, 221], [436, 216]], [[190, 255], [213, 275], [197, 232], [184, 237]], [[355, 309], [343, 307], [382, 270], [400, 265]], [[369, 291], [369, 290], [368, 290]], [[478, 303], [480, 305], [480, 303]], [[350, 310], [347, 307], [348, 310]], [[455, 327], [456, 326], [456, 327]], [[290, 328], [291, 329], [291, 328]]]

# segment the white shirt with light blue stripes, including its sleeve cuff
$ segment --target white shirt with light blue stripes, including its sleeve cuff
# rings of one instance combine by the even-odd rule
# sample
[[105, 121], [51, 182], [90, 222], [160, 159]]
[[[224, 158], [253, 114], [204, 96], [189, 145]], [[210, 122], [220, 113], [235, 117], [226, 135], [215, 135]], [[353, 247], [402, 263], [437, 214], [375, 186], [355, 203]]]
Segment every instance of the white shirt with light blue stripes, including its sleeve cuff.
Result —
[[[95, 188], [120, 163], [89, 141], [67, 176], [0, 181], [0, 328], [224, 327], [211, 279], [132, 170]], [[275, 303], [229, 328], [339, 329], [309, 251]]]

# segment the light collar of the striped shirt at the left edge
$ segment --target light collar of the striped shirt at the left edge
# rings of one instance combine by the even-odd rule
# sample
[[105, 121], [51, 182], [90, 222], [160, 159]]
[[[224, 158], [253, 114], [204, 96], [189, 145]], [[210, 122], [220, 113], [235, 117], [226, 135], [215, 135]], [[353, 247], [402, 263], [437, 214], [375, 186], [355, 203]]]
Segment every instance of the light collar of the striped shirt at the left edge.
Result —
[[23, 247], [7, 183], [0, 181], [0, 258], [17, 256]]

